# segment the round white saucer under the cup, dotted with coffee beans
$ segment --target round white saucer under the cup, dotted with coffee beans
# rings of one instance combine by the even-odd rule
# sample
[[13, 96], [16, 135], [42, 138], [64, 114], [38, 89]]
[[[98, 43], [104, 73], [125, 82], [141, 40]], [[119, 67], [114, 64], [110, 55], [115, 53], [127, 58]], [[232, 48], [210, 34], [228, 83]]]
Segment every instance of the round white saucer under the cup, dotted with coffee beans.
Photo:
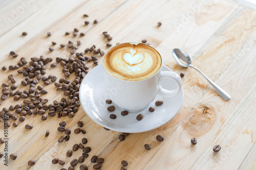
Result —
[[[171, 71], [164, 65], [162, 70]], [[122, 110], [118, 110], [117, 108], [115, 111], [109, 112], [107, 108], [113, 105], [113, 103], [111, 105], [106, 104], [106, 99], [103, 97], [104, 94], [108, 93], [104, 86], [103, 71], [103, 66], [100, 64], [84, 77], [80, 85], [79, 98], [82, 108], [87, 115], [93, 119], [94, 122], [105, 128], [126, 133], [150, 131], [166, 124], [181, 108], [183, 102], [183, 88], [180, 90], [179, 94], [173, 98], [163, 98], [157, 95], [148, 107], [139, 112], [129, 113], [125, 116], [122, 116]], [[176, 87], [176, 84], [168, 79], [164, 79], [161, 85], [171, 90], [170, 83], [173, 83], [171, 85], [174, 86], [173, 88]], [[163, 100], [163, 104], [156, 106], [155, 102], [157, 100]], [[151, 106], [155, 107], [154, 112], [148, 111], [148, 108]], [[144, 117], [142, 120], [138, 121], [136, 116], [140, 113], [143, 114]], [[117, 118], [111, 119], [110, 114], [115, 114]]]

